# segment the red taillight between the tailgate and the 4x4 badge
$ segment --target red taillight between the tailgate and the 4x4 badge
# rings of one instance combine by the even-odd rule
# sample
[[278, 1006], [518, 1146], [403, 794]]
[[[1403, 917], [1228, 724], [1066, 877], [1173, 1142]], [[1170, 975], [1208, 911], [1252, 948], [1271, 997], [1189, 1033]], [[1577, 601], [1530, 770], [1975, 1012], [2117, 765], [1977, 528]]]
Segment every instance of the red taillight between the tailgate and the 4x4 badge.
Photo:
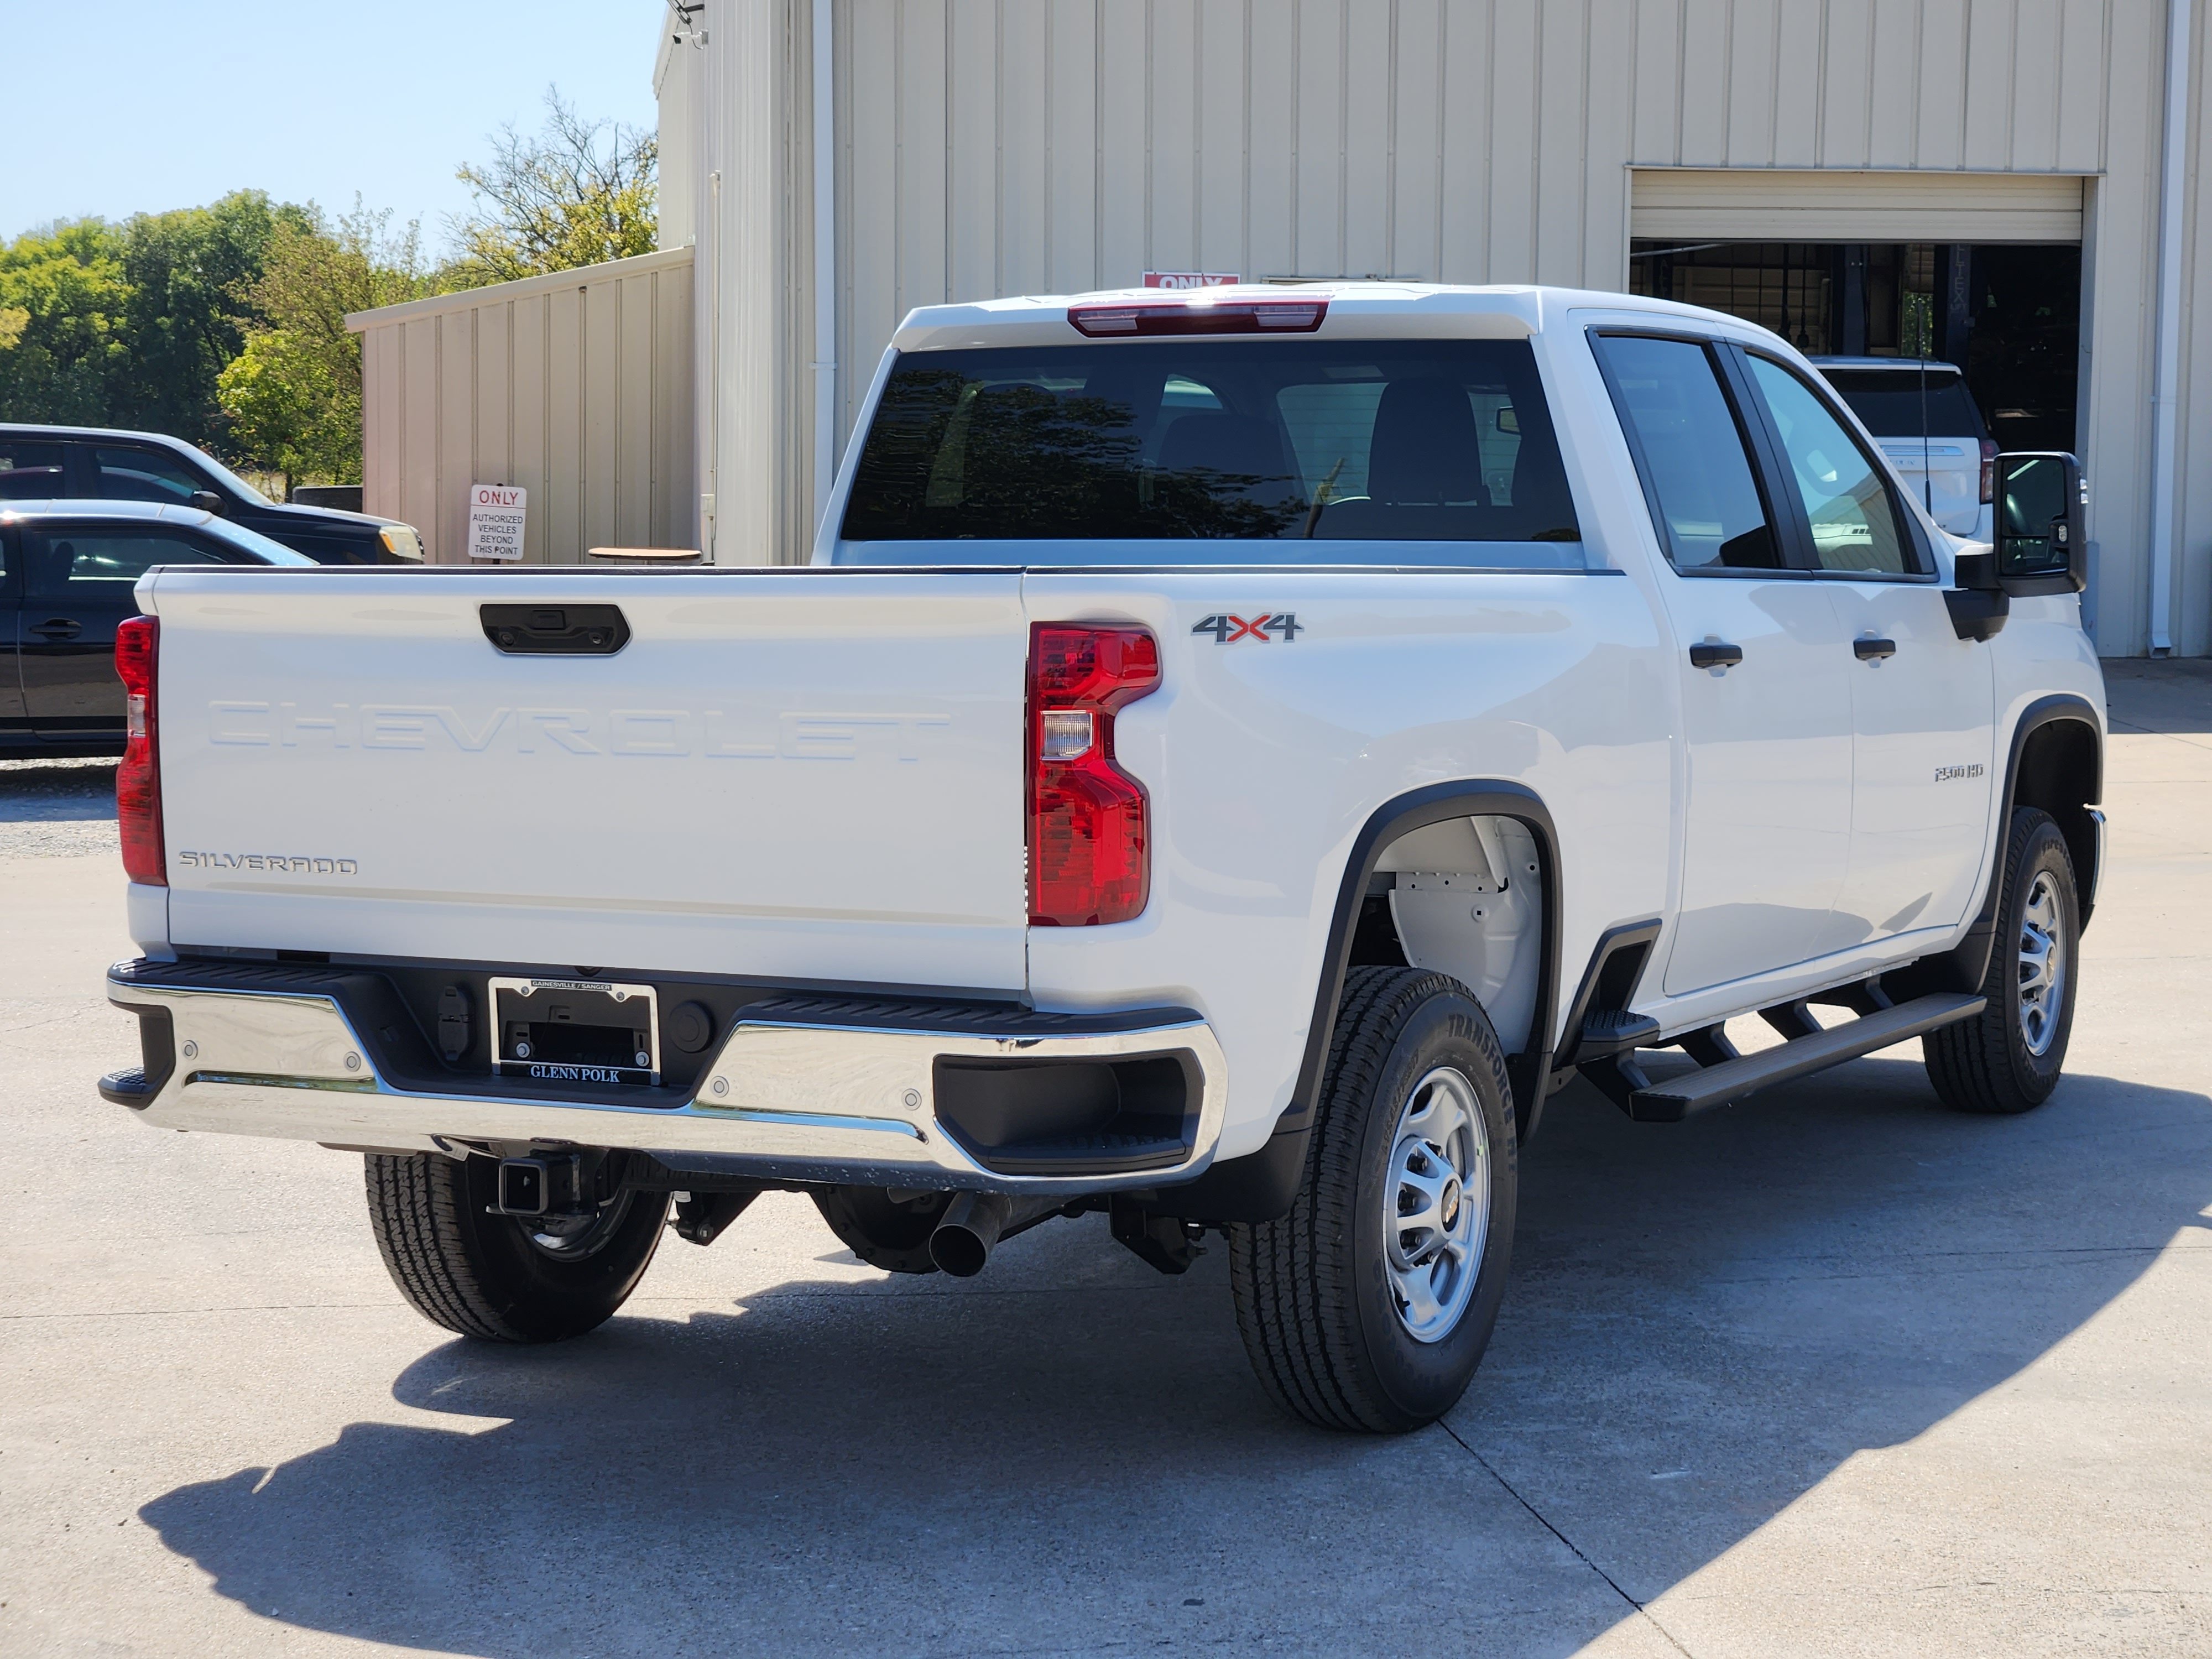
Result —
[[1099, 927], [1144, 914], [1144, 785], [1115, 765], [1115, 710], [1159, 686], [1144, 628], [1040, 622], [1029, 633], [1029, 920]]

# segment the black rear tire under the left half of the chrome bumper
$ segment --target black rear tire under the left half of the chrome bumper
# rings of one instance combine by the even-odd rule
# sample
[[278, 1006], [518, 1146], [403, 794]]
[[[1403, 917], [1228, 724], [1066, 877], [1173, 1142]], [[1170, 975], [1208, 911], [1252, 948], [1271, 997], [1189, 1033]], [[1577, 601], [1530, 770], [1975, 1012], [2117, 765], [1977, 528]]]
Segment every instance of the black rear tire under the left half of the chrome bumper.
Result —
[[369, 1223], [400, 1294], [484, 1343], [562, 1343], [630, 1298], [661, 1241], [664, 1192], [624, 1192], [568, 1237], [491, 1214], [500, 1166], [438, 1152], [365, 1159]]

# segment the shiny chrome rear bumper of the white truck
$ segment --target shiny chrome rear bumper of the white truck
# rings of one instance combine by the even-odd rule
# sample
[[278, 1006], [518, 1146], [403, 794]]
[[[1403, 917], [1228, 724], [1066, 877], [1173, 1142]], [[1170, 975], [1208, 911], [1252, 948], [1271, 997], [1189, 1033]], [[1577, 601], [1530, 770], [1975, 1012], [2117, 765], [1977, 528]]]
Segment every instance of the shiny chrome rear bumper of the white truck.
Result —
[[[739, 1015], [730, 1037], [679, 1106], [591, 1095], [403, 1088], [380, 1075], [332, 995], [288, 989], [161, 984], [161, 964], [124, 962], [108, 1000], [139, 1013], [173, 1046], [166, 1075], [117, 1073], [102, 1084], [155, 1128], [321, 1141], [376, 1152], [467, 1152], [471, 1146], [617, 1146], [761, 1179], [982, 1192], [1115, 1192], [1201, 1175], [1221, 1139], [1228, 1071], [1212, 1029], [1181, 1013], [1130, 1029], [973, 1031], [810, 1024]], [[1068, 1024], [1068, 1022], [1060, 1022]], [[1075, 1022], [1079, 1026], [1079, 1022]], [[938, 1060], [1177, 1057], [1199, 1077], [1188, 1157], [1172, 1166], [1079, 1175], [1006, 1175], [987, 1168], [936, 1115]], [[159, 1066], [155, 1066], [159, 1071]], [[491, 1084], [491, 1079], [487, 1079]]]

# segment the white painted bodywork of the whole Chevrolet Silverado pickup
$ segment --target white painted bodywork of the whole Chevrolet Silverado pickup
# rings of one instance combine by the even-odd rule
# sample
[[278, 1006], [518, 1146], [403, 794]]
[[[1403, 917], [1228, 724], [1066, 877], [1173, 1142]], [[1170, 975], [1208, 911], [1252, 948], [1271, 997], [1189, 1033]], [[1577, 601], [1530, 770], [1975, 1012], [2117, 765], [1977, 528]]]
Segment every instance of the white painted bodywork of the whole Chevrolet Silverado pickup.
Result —
[[[1066, 345], [1064, 307], [916, 312], [869, 405], [898, 352]], [[139, 942], [1190, 1009], [1225, 1062], [1221, 1159], [1292, 1106], [1352, 847], [1427, 785], [1520, 785], [1553, 816], [1544, 1031], [1517, 982], [1526, 896], [1473, 916], [1493, 938], [1449, 942], [1447, 889], [1422, 889], [1413, 854], [1383, 865], [1398, 931], [1438, 940], [1425, 964], [1498, 984], [1509, 1051], [1559, 1040], [1595, 942], [1632, 922], [1661, 922], [1635, 1013], [1668, 1033], [1949, 949], [2002, 852], [1991, 803], [2022, 710], [2070, 692], [2101, 712], [2075, 602], [2024, 599], [1995, 639], [1958, 639], [1944, 535], [1933, 580], [1907, 584], [1677, 573], [1593, 325], [1803, 363], [1734, 319], [1557, 290], [1356, 288], [1325, 330], [1526, 338], [1586, 568], [1389, 566], [1371, 544], [1340, 566], [1312, 544], [1296, 564], [1199, 564], [1168, 542], [1157, 564], [1110, 568], [1068, 568], [1082, 544], [1066, 542], [998, 544], [1004, 568], [987, 571], [951, 568], [973, 542], [911, 544], [938, 568], [823, 568], [856, 442], [807, 571], [157, 573], [139, 595], [164, 628], [170, 889], [166, 914], [159, 889], [135, 891]], [[484, 602], [619, 604], [633, 639], [617, 657], [502, 657]], [[1192, 633], [1223, 611], [1305, 628]], [[1152, 823], [1133, 922], [1026, 920], [1037, 622], [1159, 641], [1159, 690], [1117, 732]], [[1856, 661], [1869, 633], [1898, 655]], [[1756, 672], [1692, 670], [1703, 639], [1743, 646]], [[1960, 783], [1933, 787], [1936, 768]], [[1480, 858], [1504, 858], [1495, 825], [1480, 834]]]

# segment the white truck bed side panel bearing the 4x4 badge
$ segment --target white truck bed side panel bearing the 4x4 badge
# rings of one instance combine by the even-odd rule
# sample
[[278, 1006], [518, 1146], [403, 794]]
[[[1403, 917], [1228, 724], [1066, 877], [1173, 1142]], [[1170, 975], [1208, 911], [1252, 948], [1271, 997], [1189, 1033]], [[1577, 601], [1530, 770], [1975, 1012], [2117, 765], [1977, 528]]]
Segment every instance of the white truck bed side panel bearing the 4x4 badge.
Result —
[[[1221, 1157], [1290, 1106], [1345, 860], [1380, 803], [1475, 776], [1590, 803], [1557, 825], [1568, 953], [1668, 889], [1672, 664], [1617, 571], [1394, 571], [1387, 588], [1374, 571], [1068, 571], [1031, 573], [1024, 597], [1035, 617], [1152, 628], [1168, 684], [1117, 737], [1152, 796], [1152, 905], [1033, 929], [1029, 991], [1206, 1013], [1230, 1066]], [[1265, 648], [1190, 633], [1223, 606], [1323, 622]]]

